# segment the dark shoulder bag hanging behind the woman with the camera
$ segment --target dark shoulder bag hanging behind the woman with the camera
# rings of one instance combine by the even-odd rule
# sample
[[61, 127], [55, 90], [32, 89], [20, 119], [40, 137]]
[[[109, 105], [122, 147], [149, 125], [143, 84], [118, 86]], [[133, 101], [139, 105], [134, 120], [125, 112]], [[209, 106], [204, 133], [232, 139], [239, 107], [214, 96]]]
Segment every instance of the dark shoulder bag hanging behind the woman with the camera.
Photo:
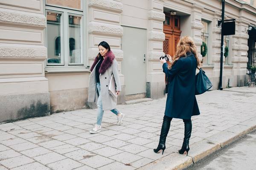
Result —
[[203, 94], [212, 87], [212, 83], [206, 76], [205, 71], [200, 68], [198, 74], [195, 75], [195, 95]]

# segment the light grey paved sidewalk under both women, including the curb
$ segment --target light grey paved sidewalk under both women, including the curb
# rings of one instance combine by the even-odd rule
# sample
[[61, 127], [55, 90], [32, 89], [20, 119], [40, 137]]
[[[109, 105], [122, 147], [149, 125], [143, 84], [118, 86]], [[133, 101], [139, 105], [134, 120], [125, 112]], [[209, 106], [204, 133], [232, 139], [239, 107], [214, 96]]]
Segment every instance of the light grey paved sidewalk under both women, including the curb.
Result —
[[0, 170], [181, 170], [256, 129], [256, 88], [197, 96], [189, 156], [182, 120], [173, 119], [164, 154], [156, 154], [166, 98], [118, 105], [120, 126], [105, 112], [102, 132], [90, 134], [97, 111], [82, 109], [0, 125]]

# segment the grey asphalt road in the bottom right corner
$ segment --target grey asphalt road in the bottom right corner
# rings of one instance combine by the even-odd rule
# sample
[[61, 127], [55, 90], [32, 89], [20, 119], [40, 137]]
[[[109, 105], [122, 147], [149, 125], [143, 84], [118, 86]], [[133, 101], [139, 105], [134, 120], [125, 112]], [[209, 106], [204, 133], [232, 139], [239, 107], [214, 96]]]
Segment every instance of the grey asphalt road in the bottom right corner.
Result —
[[256, 170], [256, 130], [185, 170]]

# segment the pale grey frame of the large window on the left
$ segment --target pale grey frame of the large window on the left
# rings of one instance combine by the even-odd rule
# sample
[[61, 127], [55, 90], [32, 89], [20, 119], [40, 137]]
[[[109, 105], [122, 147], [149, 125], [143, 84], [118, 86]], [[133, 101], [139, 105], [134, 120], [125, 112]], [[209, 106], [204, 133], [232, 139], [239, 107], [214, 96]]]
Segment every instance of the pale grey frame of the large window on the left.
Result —
[[[85, 26], [85, 23], [87, 23], [87, 5], [86, 3], [83, 2], [82, 6], [83, 6], [83, 11], [81, 10], [77, 10], [77, 9], [73, 9], [73, 8], [64, 8], [63, 6], [49, 6], [46, 5], [46, 0], [43, 0], [44, 3], [44, 15], [47, 16], [47, 11], [52, 11], [52, 12], [63, 12], [66, 11], [69, 14], [72, 15], [81, 15], [82, 19], [81, 19], [81, 64], [71, 64], [68, 65], [68, 49], [65, 48], [64, 44], [68, 45], [68, 35], [66, 36], [67, 40], [64, 40], [64, 38], [62, 38], [64, 40], [63, 44], [63, 50], [64, 50], [64, 54], [66, 53], [66, 58], [64, 57], [64, 65], [57, 65], [56, 63], [51, 63], [49, 64], [47, 62], [47, 59], [45, 60], [45, 70], [47, 72], [76, 72], [76, 71], [88, 71], [88, 57], [87, 57], [87, 37], [88, 37], [88, 33], [87, 33], [87, 26]], [[67, 14], [68, 15], [68, 14]], [[65, 22], [65, 20], [63, 19], [63, 23]], [[66, 23], [68, 24], [68, 17], [66, 20]], [[68, 28], [68, 25], [66, 24], [66, 28]], [[64, 29], [64, 28], [63, 28]], [[67, 31], [67, 30], [66, 30]], [[64, 34], [64, 33], [63, 33]], [[44, 29], [44, 38], [46, 41], [44, 41], [44, 45], [47, 47], [47, 28]], [[66, 42], [66, 43], [65, 43]], [[65, 48], [65, 49], [64, 49]], [[47, 54], [48, 55], [48, 54]]]

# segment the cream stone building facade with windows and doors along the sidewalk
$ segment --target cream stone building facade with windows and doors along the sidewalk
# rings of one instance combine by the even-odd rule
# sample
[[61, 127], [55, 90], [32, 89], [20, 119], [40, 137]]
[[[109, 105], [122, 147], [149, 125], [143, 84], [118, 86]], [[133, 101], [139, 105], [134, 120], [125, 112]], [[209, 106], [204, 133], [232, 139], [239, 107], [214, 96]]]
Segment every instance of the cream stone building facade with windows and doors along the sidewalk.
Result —
[[[256, 26], [256, 0], [226, 0], [229, 19], [236, 19], [236, 34], [224, 37], [223, 88], [248, 79], [248, 50], [256, 40], [248, 28]], [[95, 107], [87, 103], [89, 69], [103, 40], [119, 64], [120, 104], [165, 96], [159, 57], [174, 55], [185, 35], [194, 39], [217, 89], [218, 20], [220, 0], [0, 0], [0, 122]]]

